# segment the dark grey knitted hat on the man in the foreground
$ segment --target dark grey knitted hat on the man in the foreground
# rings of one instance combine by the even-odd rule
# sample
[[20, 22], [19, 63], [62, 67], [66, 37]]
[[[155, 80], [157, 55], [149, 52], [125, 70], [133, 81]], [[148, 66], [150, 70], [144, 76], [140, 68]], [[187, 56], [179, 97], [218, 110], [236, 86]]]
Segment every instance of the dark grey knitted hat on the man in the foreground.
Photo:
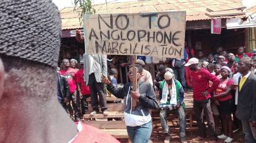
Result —
[[61, 18], [51, 0], [1, 1], [0, 25], [0, 57], [19, 57], [56, 67]]

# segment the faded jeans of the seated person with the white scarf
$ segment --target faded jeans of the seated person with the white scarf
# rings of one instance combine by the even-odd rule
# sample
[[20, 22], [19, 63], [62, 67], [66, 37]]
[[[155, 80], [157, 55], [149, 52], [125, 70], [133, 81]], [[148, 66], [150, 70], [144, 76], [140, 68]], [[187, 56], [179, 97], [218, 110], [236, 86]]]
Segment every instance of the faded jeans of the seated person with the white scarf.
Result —
[[[176, 111], [179, 118], [179, 137], [184, 138], [186, 137], [186, 115], [184, 112], [184, 108], [181, 105], [179, 108], [174, 110]], [[169, 108], [161, 108], [160, 111], [160, 120], [161, 126], [163, 128], [163, 133], [169, 133], [169, 127], [166, 123], [166, 118], [169, 115], [169, 111]]]

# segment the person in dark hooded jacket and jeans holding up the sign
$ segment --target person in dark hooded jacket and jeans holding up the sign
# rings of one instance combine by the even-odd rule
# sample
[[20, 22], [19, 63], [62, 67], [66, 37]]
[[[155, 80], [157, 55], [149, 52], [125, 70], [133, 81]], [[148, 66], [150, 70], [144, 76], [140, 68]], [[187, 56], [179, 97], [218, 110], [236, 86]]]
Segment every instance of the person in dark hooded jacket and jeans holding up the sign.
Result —
[[[107, 89], [117, 98], [124, 99], [124, 120], [127, 133], [132, 142], [148, 142], [152, 131], [150, 109], [158, 108], [155, 92], [150, 83], [142, 80], [142, 66], [135, 64], [137, 70], [137, 87], [132, 91], [132, 83], [127, 83], [123, 88], [116, 88], [105, 76], [101, 80], [107, 84]], [[129, 67], [129, 80], [132, 81], [132, 66]], [[132, 99], [137, 99], [135, 110], [132, 110]]]

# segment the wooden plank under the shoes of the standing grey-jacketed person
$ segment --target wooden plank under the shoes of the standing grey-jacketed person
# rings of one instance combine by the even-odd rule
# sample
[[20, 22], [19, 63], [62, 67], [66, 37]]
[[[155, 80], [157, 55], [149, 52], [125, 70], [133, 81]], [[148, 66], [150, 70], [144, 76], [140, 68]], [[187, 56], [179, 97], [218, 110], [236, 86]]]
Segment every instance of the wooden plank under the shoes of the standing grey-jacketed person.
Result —
[[90, 118], [124, 118], [123, 112], [117, 112], [117, 111], [108, 111], [108, 115], [105, 116], [103, 113], [98, 113], [96, 115], [91, 116], [90, 114], [83, 115], [83, 119], [87, 120]]

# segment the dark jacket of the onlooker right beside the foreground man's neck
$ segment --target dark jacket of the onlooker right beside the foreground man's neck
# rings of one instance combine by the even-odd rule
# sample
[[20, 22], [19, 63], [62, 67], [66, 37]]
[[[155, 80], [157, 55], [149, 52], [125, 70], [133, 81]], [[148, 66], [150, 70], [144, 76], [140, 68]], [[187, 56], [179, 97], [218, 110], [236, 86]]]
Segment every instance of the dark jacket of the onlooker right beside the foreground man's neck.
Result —
[[58, 74], [58, 99], [59, 102], [64, 100], [64, 97], [71, 99], [69, 92], [69, 84], [67, 83], [67, 78], [65, 76]]

